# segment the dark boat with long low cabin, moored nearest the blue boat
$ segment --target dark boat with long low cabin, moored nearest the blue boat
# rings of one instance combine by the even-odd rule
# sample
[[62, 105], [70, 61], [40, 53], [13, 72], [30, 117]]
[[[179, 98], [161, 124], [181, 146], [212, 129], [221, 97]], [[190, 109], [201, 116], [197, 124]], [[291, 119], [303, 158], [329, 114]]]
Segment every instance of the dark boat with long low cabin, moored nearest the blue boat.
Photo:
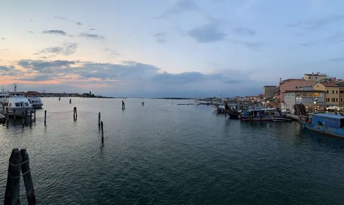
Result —
[[243, 121], [272, 121], [274, 118], [282, 118], [275, 108], [246, 109], [241, 115]]

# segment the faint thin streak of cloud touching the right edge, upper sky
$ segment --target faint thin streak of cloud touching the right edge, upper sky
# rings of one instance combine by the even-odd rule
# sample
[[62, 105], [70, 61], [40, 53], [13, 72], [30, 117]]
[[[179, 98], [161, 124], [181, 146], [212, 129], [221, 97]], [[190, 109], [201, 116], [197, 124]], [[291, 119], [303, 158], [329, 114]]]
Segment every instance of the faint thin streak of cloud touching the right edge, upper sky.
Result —
[[344, 21], [344, 15], [332, 15], [317, 19], [301, 20], [297, 23], [289, 24], [290, 28], [303, 28], [305, 30], [319, 30], [328, 25], [340, 25]]

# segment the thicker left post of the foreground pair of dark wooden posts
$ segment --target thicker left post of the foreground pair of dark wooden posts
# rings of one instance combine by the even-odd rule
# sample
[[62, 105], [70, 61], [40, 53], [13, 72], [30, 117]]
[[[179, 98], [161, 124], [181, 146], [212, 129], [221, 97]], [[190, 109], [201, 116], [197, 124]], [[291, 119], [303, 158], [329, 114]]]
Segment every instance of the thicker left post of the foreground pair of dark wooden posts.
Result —
[[12, 149], [3, 204], [20, 204], [21, 153], [18, 148]]

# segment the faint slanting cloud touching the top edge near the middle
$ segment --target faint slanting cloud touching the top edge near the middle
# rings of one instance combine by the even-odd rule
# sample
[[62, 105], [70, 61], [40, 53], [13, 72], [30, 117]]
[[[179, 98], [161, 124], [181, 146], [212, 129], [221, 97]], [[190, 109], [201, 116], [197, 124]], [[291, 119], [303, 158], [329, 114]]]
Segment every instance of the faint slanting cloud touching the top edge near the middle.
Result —
[[156, 19], [166, 19], [167, 17], [173, 15], [180, 15], [184, 14], [185, 12], [189, 12], [192, 10], [197, 10], [197, 6], [191, 0], [179, 0], [175, 1], [175, 3], [170, 7], [167, 8], [163, 14], [159, 17], [155, 17]]

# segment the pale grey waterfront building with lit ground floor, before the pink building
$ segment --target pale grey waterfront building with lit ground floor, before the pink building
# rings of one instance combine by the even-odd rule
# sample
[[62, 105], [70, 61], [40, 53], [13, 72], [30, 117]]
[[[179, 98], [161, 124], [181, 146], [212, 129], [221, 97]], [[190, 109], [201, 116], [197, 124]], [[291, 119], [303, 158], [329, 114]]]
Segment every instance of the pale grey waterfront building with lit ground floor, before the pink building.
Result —
[[294, 113], [294, 105], [303, 104], [309, 111], [319, 110], [325, 105], [325, 91], [302, 88], [297, 91], [287, 90], [284, 92], [285, 109]]

